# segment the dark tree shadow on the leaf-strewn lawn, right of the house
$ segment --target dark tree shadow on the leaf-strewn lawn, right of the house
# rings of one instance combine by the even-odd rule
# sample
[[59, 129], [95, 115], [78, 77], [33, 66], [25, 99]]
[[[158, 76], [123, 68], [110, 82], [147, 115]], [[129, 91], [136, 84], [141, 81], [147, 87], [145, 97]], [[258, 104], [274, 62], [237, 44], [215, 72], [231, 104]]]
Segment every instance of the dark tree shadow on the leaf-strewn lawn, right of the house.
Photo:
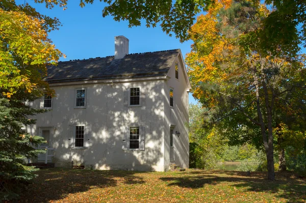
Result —
[[160, 180], [168, 182], [168, 186], [192, 189], [228, 182], [243, 191], [274, 193], [275, 197], [285, 198], [288, 202], [306, 198], [306, 181], [292, 177], [292, 173], [276, 173], [276, 180], [269, 181], [264, 172], [251, 172], [251, 176], [246, 176], [246, 172], [242, 171], [202, 170], [184, 172], [181, 176], [161, 177]]

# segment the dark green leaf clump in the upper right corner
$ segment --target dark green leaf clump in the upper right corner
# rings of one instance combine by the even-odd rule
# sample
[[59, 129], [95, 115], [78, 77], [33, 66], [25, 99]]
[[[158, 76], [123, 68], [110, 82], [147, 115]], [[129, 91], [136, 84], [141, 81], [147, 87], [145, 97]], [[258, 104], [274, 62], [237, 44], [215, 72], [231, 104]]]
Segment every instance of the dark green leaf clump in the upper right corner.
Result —
[[304, 0], [266, 0], [273, 12], [263, 20], [260, 45], [273, 55], [295, 55], [306, 42], [306, 2]]

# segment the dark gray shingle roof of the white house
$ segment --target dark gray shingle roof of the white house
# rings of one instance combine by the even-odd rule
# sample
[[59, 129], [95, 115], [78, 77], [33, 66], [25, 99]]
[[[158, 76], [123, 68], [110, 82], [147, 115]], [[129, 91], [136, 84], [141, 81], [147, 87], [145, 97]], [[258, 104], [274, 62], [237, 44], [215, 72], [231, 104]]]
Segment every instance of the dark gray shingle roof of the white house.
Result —
[[126, 79], [166, 75], [180, 49], [125, 55], [123, 59], [114, 56], [59, 62], [47, 66], [48, 83]]

